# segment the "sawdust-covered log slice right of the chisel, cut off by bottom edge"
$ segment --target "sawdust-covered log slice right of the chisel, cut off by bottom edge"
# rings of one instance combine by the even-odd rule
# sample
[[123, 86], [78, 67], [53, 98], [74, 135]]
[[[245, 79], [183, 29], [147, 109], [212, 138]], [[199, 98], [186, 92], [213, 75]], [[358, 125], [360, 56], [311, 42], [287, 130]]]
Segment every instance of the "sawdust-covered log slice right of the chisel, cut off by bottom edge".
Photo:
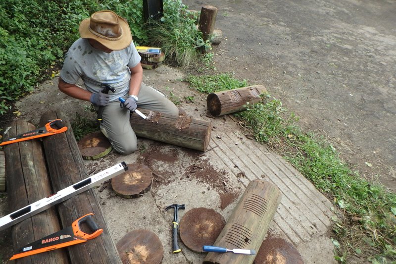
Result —
[[303, 264], [297, 249], [282, 238], [267, 238], [261, 244], [254, 264]]

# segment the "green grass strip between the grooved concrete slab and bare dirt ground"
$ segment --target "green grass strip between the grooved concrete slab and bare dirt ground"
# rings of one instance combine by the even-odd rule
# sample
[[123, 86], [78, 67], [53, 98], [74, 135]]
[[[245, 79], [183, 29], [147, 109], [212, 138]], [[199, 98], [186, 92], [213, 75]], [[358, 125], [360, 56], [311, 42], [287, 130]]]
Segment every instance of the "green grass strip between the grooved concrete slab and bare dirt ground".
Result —
[[[187, 81], [202, 93], [247, 86], [225, 76], [189, 76]], [[350, 169], [325, 137], [302, 131], [298, 117], [279, 100], [263, 97], [262, 103], [247, 104], [235, 115], [258, 142], [280, 153], [340, 209], [342, 215], [332, 217], [336, 260], [347, 263], [355, 256], [372, 263], [396, 262], [396, 195]]]

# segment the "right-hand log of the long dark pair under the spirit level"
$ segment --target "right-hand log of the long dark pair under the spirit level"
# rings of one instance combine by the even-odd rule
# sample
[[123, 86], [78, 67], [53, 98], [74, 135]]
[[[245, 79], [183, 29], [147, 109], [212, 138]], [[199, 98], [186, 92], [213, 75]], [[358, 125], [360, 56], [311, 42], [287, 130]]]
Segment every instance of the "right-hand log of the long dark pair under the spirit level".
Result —
[[[56, 118], [63, 119], [68, 130], [65, 133], [43, 138], [44, 151], [54, 191], [64, 189], [88, 177], [67, 115], [60, 110], [50, 110], [42, 115], [40, 124], [44, 125], [48, 120]], [[92, 189], [59, 204], [57, 211], [62, 225], [65, 227], [70, 226], [75, 219], [93, 212], [95, 221], [103, 229], [103, 233], [97, 238], [67, 248], [71, 263], [121, 263], [103, 218], [98, 198]]]

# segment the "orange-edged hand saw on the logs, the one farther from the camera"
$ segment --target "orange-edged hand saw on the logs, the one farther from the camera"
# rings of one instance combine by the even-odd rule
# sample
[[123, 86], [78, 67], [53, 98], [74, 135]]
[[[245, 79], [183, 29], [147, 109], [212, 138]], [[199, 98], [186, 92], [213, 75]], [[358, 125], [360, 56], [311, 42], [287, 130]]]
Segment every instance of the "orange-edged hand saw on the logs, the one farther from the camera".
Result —
[[47, 137], [47, 136], [65, 132], [67, 130], [67, 126], [65, 126], [62, 122], [63, 122], [63, 120], [61, 120], [61, 119], [52, 120], [51, 122], [48, 122], [46, 124], [46, 126], [40, 127], [36, 130], [32, 130], [32, 131], [20, 134], [13, 138], [9, 138], [9, 139], [3, 141], [0, 144], [0, 146], [15, 143], [15, 142], [20, 142], [20, 141], [25, 141], [25, 140], [29, 140], [29, 139], [34, 139], [34, 138]]

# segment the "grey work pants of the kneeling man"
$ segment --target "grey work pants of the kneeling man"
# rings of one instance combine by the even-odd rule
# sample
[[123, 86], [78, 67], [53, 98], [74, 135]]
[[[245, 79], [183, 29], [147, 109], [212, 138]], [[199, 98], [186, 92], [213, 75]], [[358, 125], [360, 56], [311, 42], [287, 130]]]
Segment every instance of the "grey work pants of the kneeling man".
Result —
[[[162, 96], [153, 87], [142, 83], [138, 95], [138, 107], [178, 115], [179, 109], [171, 101]], [[114, 150], [122, 155], [128, 155], [137, 149], [137, 139], [130, 123], [129, 110], [120, 107], [120, 102], [111, 102], [104, 106], [103, 121], [100, 129], [108, 137]]]

